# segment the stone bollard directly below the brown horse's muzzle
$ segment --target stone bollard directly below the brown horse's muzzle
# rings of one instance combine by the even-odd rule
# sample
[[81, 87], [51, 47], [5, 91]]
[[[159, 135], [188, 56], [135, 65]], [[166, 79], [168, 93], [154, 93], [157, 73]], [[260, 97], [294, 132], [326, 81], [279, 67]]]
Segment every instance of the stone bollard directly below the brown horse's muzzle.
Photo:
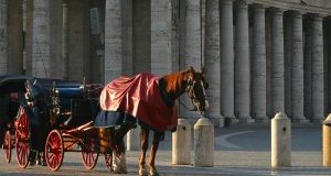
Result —
[[214, 166], [214, 125], [206, 118], [194, 124], [194, 166]]

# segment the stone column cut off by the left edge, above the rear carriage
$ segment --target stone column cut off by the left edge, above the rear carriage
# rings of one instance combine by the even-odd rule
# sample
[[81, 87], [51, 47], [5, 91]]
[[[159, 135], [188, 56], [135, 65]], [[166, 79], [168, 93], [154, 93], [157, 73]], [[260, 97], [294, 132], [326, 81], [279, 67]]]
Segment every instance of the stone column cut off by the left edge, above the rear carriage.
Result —
[[0, 75], [8, 74], [8, 0], [0, 0]]

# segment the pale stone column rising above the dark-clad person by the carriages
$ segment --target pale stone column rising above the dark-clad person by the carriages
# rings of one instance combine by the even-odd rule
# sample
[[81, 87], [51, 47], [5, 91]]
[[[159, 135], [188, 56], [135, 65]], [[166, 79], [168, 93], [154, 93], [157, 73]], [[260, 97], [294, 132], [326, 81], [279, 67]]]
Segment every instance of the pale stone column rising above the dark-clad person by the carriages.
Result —
[[51, 75], [50, 0], [34, 0], [32, 32], [32, 75]]

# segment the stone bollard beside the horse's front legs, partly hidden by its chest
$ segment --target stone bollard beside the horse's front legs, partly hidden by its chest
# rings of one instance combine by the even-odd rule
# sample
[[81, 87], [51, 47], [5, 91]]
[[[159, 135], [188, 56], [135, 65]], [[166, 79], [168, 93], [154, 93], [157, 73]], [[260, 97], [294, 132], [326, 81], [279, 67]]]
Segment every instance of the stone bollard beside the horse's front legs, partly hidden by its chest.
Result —
[[177, 131], [172, 133], [172, 164], [191, 164], [191, 124], [185, 119], [178, 119]]

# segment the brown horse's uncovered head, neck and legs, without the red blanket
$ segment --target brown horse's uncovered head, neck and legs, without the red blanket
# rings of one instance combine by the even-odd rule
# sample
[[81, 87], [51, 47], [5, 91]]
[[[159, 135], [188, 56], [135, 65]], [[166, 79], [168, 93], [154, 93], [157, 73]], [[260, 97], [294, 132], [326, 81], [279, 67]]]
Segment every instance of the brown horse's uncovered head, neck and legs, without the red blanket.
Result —
[[[188, 96], [192, 100], [192, 103], [194, 106], [194, 110], [203, 112], [207, 108], [207, 101], [205, 97], [207, 82], [205, 81], [203, 69], [202, 72], [195, 72], [193, 67], [191, 67], [188, 70], [166, 75], [160, 78], [158, 86], [160, 95], [167, 106], [175, 106], [175, 99], [178, 99], [184, 92], [188, 92]], [[120, 125], [120, 128], [117, 130], [115, 130], [115, 128], [99, 128], [100, 152], [104, 154], [113, 153], [113, 168], [110, 169], [114, 173], [127, 173], [124, 155], [124, 136], [132, 128], [135, 128], [135, 125], [129, 123]], [[146, 152], [148, 150], [148, 136], [150, 130], [150, 128], [141, 125], [140, 138], [142, 151], [139, 160], [139, 175], [159, 175], [154, 166], [154, 161], [159, 142], [162, 135], [164, 135], [164, 131], [159, 131], [158, 129], [153, 130], [154, 134], [148, 163], [149, 172], [147, 172], [145, 161]]]

